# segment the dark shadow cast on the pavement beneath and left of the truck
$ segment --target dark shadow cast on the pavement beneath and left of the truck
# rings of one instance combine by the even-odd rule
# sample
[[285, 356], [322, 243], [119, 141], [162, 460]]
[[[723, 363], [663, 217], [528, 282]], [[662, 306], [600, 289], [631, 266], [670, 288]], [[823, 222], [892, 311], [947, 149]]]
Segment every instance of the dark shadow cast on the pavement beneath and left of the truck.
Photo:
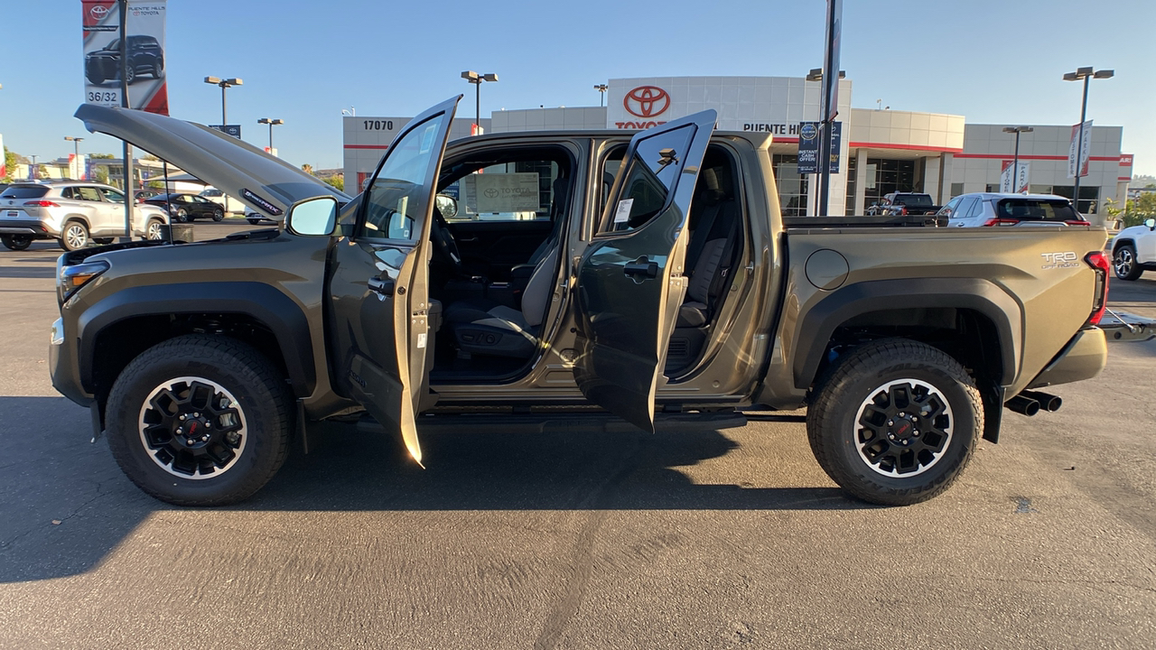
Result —
[[[0, 397], [0, 583], [94, 569], [149, 516], [176, 508], [144, 495], [105, 441], [90, 444], [88, 412], [65, 398]], [[875, 508], [835, 487], [756, 487], [777, 467], [738, 463], [736, 485], [696, 483], [683, 471], [735, 451], [703, 430], [629, 434], [423, 436], [427, 470], [390, 436], [319, 426], [310, 453], [225, 511], [847, 510]], [[796, 445], [791, 440], [784, 444]], [[793, 460], [783, 459], [784, 464]], [[746, 474], [744, 474], [746, 473]]]

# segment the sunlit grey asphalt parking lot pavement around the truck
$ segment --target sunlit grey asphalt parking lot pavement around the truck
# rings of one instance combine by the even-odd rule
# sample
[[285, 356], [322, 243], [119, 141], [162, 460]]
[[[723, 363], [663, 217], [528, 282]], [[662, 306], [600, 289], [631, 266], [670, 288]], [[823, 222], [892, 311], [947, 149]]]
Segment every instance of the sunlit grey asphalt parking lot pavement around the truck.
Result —
[[[436, 434], [424, 471], [332, 426], [250, 501], [179, 509], [51, 386], [59, 253], [0, 251], [0, 648], [1156, 647], [1156, 341], [909, 508], [844, 496], [798, 412]], [[1156, 318], [1156, 273], [1110, 306]]]

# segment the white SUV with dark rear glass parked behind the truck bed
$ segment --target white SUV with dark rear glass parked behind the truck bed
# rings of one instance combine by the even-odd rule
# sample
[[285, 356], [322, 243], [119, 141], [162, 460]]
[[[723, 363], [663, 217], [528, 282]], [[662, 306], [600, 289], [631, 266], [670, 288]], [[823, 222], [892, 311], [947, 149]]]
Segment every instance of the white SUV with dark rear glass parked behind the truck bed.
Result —
[[959, 194], [940, 208], [948, 228], [983, 226], [1089, 226], [1072, 201], [1054, 194]]

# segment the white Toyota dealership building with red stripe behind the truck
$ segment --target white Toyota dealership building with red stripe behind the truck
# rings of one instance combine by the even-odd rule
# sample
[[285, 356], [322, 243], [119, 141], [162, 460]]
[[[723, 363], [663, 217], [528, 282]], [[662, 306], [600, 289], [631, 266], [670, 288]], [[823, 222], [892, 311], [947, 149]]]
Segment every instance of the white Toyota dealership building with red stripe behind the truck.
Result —
[[[816, 214], [816, 178], [800, 175], [799, 128], [820, 119], [822, 83], [785, 76], [662, 76], [612, 79], [606, 106], [495, 111], [481, 119], [487, 133], [549, 130], [637, 131], [705, 109], [718, 111], [720, 131], [770, 133], [783, 212]], [[852, 108], [852, 82], [839, 81], [839, 172], [831, 176], [829, 214], [864, 214], [889, 192], [926, 192], [936, 204], [966, 192], [998, 192], [1020, 135], [1020, 171], [1030, 192], [1072, 197], [1070, 125], [969, 124], [965, 116]], [[459, 111], [459, 116], [462, 111]], [[357, 186], [372, 175], [407, 117], [343, 118], [344, 173]], [[454, 120], [451, 138], [468, 136], [474, 120]], [[1080, 210], [1098, 214], [1104, 201], [1122, 201], [1132, 155], [1120, 153], [1122, 127], [1094, 126]], [[1010, 175], [1009, 175], [1010, 177]]]

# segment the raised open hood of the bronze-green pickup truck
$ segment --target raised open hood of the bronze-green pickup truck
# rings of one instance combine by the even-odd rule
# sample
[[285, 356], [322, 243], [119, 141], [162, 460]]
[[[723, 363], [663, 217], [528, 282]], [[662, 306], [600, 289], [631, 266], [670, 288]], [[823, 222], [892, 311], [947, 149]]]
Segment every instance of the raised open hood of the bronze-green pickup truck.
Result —
[[292, 204], [318, 195], [350, 197], [296, 167], [201, 124], [129, 109], [81, 104], [77, 119], [169, 161], [255, 210], [282, 219]]

